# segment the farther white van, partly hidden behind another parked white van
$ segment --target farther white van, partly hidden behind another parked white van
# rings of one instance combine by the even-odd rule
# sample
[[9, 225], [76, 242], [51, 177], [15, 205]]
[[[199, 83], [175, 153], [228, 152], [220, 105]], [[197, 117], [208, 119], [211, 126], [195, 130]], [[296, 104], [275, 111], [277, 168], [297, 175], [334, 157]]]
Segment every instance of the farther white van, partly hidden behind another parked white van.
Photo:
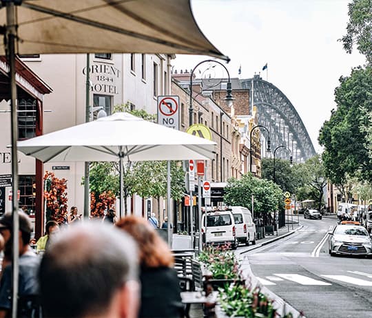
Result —
[[252, 219], [251, 211], [243, 206], [231, 206], [231, 212], [234, 215], [236, 238], [238, 241], [256, 244], [256, 225]]

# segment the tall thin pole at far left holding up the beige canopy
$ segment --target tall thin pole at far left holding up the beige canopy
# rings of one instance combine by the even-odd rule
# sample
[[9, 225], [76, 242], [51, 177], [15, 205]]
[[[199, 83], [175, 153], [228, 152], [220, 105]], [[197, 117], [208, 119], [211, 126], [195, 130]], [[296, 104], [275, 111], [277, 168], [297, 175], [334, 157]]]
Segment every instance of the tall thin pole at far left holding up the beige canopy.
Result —
[[17, 158], [17, 86], [15, 79], [15, 38], [17, 31], [15, 26], [15, 10], [14, 3], [8, 1], [6, 3], [6, 19], [7, 19], [7, 48], [9, 62], [9, 77], [10, 77], [10, 106], [11, 106], [11, 127], [12, 127], [12, 318], [17, 318], [17, 296], [18, 296], [18, 275], [19, 275], [19, 215], [18, 215], [18, 158]]

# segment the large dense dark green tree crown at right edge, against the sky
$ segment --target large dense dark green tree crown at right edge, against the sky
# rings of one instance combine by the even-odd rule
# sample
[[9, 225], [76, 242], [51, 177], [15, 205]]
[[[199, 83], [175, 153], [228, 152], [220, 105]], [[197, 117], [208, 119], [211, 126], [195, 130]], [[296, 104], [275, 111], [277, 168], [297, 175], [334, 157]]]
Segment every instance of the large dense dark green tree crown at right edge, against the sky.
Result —
[[319, 135], [326, 175], [338, 187], [345, 183], [347, 174], [371, 183], [371, 139], [366, 127], [371, 126], [372, 67], [358, 67], [350, 77], [341, 77], [335, 101], [338, 108], [324, 122]]

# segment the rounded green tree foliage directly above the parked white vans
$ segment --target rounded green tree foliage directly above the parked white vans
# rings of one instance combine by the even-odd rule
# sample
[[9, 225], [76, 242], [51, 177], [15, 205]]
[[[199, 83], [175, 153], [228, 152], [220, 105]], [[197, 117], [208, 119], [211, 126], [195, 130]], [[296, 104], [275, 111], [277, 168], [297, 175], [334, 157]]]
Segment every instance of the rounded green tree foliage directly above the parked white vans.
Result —
[[251, 196], [254, 195], [254, 211], [266, 214], [282, 208], [283, 193], [272, 181], [258, 179], [251, 173], [241, 179], [229, 179], [225, 187], [223, 201], [229, 206], [245, 206], [251, 209]]

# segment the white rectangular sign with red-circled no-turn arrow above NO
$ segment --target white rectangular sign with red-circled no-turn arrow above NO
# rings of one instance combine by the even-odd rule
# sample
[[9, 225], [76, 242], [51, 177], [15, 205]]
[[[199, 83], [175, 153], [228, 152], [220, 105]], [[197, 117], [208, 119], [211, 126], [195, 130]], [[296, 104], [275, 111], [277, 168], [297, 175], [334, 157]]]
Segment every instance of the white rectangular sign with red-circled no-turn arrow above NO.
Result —
[[158, 96], [158, 123], [176, 130], [180, 129], [180, 97]]

